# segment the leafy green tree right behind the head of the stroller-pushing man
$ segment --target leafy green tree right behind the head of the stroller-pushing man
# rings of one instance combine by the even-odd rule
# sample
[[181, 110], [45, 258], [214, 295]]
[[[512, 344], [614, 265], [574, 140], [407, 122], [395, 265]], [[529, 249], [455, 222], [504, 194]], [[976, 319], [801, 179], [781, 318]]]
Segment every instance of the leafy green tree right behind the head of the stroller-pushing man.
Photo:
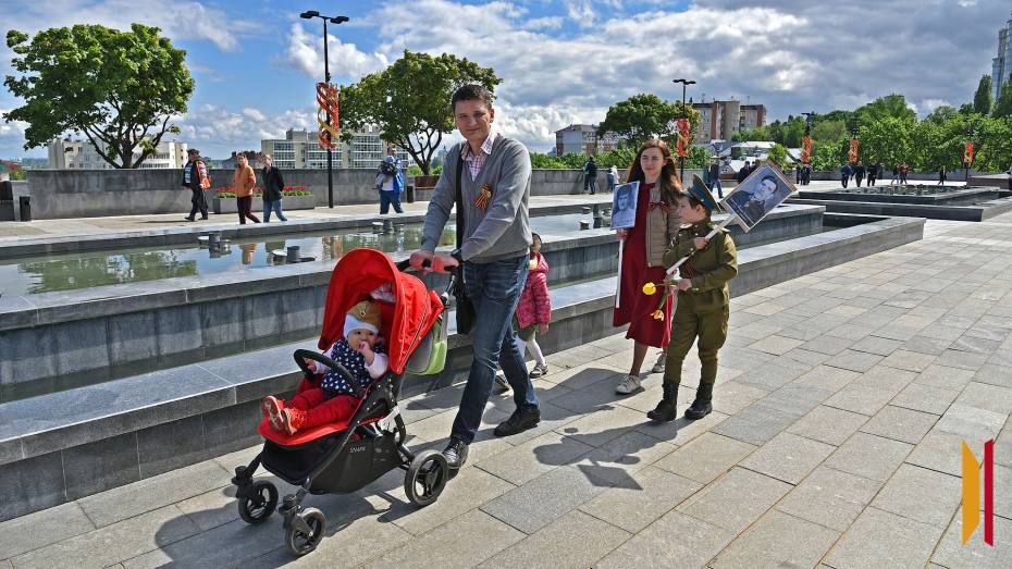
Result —
[[341, 89], [342, 138], [378, 125], [380, 136], [405, 149], [428, 175], [443, 136], [454, 128], [449, 99], [468, 83], [492, 90], [502, 79], [491, 69], [449, 53], [404, 50], [391, 66]]

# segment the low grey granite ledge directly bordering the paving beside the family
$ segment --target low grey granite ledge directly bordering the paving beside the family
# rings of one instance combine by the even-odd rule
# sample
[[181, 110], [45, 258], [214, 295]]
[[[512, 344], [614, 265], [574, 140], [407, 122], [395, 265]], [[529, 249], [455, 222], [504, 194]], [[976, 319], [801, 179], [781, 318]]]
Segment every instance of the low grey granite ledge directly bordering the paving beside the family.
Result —
[[[917, 240], [923, 231], [924, 220], [881, 219], [743, 249], [732, 296]], [[553, 290], [554, 322], [543, 349], [617, 332], [610, 326], [615, 282], [613, 276]], [[448, 319], [453, 333], [453, 314]], [[453, 334], [447, 369], [434, 378], [407, 378], [404, 395], [462, 380], [468, 344]], [[297, 348], [314, 348], [314, 342], [0, 404], [0, 521], [256, 444], [257, 401], [295, 385]]]

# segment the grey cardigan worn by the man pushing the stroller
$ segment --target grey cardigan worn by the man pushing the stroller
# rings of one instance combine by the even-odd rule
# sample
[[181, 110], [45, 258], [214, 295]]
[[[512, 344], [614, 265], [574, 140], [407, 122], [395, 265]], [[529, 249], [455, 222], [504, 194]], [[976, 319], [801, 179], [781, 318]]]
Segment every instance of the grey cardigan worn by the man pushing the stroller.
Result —
[[[443, 173], [436, 182], [425, 213], [421, 248], [434, 250], [443, 227], [449, 219], [456, 198], [457, 162], [460, 161], [460, 143], [446, 154]], [[481, 186], [492, 188], [492, 200], [486, 209], [474, 206]], [[496, 136], [492, 153], [485, 158], [478, 180], [471, 180], [467, 163], [460, 173], [464, 202], [464, 242], [460, 256], [466, 261], [488, 263], [528, 255], [531, 246], [531, 226], [528, 199], [531, 194], [531, 157], [517, 140]]]

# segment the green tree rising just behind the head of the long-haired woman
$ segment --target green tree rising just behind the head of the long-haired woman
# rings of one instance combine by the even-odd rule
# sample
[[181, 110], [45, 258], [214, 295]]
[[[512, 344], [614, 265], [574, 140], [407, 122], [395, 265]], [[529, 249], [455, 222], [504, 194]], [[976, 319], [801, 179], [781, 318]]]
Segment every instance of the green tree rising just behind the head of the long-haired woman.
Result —
[[[694, 111], [686, 106], [691, 116]], [[669, 103], [653, 94], [633, 95], [608, 108], [597, 134], [615, 133], [625, 138], [624, 145], [639, 148], [643, 141], [661, 136], [670, 139], [675, 133], [672, 120], [686, 114], [681, 102]], [[699, 113], [696, 112], [696, 116]]]

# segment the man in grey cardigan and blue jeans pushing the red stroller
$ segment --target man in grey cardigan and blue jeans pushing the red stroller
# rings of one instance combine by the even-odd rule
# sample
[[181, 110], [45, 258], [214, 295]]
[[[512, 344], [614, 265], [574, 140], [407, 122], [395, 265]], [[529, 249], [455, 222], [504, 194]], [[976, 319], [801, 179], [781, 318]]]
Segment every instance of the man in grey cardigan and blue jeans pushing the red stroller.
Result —
[[[533, 240], [528, 210], [531, 158], [522, 143], [492, 132], [495, 110], [489, 89], [464, 85], [454, 92], [451, 109], [465, 140], [446, 157], [429, 201], [421, 248], [410, 263], [421, 269], [431, 261], [437, 272], [462, 267], [467, 298], [474, 313], [481, 314], [470, 330], [471, 369], [443, 450], [449, 467], [458, 469], [478, 433], [497, 367], [513, 388], [516, 410], [493, 433], [508, 436], [527, 431], [538, 425], [541, 410], [510, 325], [527, 282]], [[458, 247], [449, 255], [435, 255], [453, 209]]]

